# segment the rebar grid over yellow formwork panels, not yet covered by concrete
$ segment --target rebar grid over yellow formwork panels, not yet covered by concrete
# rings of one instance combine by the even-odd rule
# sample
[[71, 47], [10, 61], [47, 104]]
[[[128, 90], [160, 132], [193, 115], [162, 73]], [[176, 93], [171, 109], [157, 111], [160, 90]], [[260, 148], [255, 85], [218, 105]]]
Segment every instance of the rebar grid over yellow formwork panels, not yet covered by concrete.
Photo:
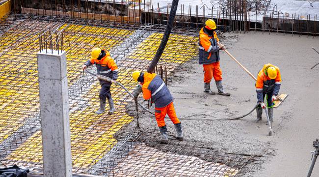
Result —
[[[91, 26], [92, 24], [94, 26]], [[133, 100], [117, 85], [112, 85], [111, 88], [116, 109], [114, 114], [94, 114], [98, 107], [100, 86], [96, 78], [84, 75], [80, 69], [81, 64], [89, 59], [92, 47], [99, 46], [110, 51], [120, 69], [118, 81], [132, 90], [136, 83], [132, 81], [131, 73], [134, 70], [146, 70], [160, 44], [164, 26], [11, 14], [1, 23], [0, 29], [3, 31], [0, 36], [1, 163], [23, 165], [40, 171], [43, 168], [36, 53], [39, 50], [37, 36], [49, 31], [53, 35], [55, 32], [63, 32], [63, 48], [67, 54], [71, 151], [75, 173], [121, 176], [123, 172], [133, 168], [138, 176], [154, 176], [148, 172], [156, 168], [148, 161], [159, 155], [174, 157], [171, 163], [176, 161], [179, 164], [170, 167], [167, 176], [202, 176], [209, 173], [234, 176], [250, 163], [245, 158], [227, 159], [226, 156], [220, 157], [221, 160], [212, 156], [213, 163], [206, 162], [192, 157], [200, 156], [193, 153], [195, 146], [176, 148], [178, 145], [170, 142], [167, 146], [158, 144], [150, 145], [153, 147], [150, 148], [141, 143], [139, 135], [134, 134], [115, 138], [113, 135], [133, 120], [133, 117], [126, 113], [126, 106]], [[187, 69], [181, 64], [197, 55], [197, 32], [178, 27], [173, 29], [159, 63], [159, 66], [166, 67], [168, 76], [177, 67], [179, 70]], [[93, 66], [89, 69], [95, 70]], [[157, 135], [151, 135], [149, 132], [149, 136], [154, 137], [156, 142]], [[204, 152], [209, 155], [208, 151]], [[227, 161], [240, 163], [232, 163], [229, 166]], [[156, 165], [159, 167], [163, 163], [165, 160], [161, 159]], [[188, 171], [182, 169], [179, 172], [183, 163], [186, 163], [187, 167], [194, 166], [190, 168], [193, 170], [187, 168]], [[197, 167], [198, 164], [211, 169]], [[197, 173], [198, 169], [202, 170]], [[160, 171], [157, 173], [157, 176], [165, 176]]]

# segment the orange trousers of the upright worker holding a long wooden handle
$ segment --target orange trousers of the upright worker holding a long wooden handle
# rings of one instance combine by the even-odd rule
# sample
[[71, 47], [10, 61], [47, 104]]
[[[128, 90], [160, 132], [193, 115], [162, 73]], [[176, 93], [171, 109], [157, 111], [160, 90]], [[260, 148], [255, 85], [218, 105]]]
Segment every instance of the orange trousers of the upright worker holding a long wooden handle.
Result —
[[222, 80], [219, 61], [210, 64], [203, 64], [204, 67], [204, 83], [211, 83], [214, 77], [215, 81]]

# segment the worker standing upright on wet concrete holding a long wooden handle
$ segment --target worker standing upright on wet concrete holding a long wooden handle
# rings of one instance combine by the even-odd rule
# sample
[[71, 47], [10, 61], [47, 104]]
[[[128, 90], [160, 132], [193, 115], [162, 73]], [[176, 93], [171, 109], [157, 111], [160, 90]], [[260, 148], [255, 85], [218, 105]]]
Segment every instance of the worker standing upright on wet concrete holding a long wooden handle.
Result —
[[204, 92], [215, 94], [211, 90], [211, 80], [214, 78], [218, 94], [230, 96], [230, 93], [224, 91], [222, 85], [221, 69], [219, 66], [219, 50], [225, 50], [225, 46], [219, 42], [215, 32], [216, 24], [212, 19], [205, 23], [199, 32], [199, 64], [204, 67]]

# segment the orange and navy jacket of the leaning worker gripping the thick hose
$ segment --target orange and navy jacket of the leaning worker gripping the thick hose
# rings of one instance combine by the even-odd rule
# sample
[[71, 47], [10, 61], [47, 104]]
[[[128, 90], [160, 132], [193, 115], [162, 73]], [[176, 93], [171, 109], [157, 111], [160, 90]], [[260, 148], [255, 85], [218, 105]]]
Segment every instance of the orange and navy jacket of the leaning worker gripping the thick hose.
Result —
[[162, 108], [173, 102], [173, 96], [169, 92], [160, 76], [155, 73], [144, 73], [142, 86], [143, 97], [148, 100], [152, 98], [156, 108]]

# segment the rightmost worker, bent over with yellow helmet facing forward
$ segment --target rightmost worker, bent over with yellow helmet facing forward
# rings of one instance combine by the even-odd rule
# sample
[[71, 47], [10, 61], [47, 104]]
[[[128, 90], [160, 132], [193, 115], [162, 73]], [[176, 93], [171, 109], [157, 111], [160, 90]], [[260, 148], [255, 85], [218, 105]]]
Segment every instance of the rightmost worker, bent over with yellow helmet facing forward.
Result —
[[[265, 64], [263, 69], [259, 71], [256, 82], [257, 99], [260, 105], [256, 108], [257, 120], [255, 123], [262, 119], [263, 109], [268, 108], [268, 117], [270, 122], [273, 121], [273, 105], [277, 99], [280, 89], [281, 77], [280, 70], [277, 66], [270, 63]], [[267, 104], [264, 103], [266, 95]], [[266, 123], [268, 125], [268, 121]]]

